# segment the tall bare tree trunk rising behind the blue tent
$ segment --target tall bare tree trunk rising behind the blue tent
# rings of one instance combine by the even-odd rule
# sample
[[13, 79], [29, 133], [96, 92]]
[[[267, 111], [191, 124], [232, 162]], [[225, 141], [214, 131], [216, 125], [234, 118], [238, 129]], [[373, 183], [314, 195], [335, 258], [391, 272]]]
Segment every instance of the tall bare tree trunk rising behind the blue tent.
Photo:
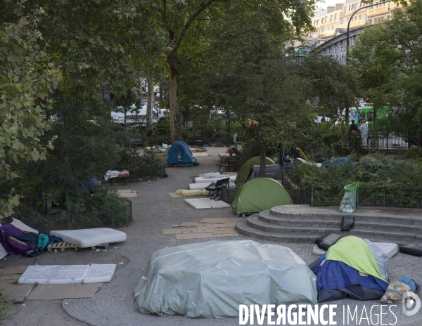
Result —
[[[170, 61], [170, 60], [169, 60]], [[172, 143], [182, 141], [181, 112], [180, 112], [180, 83], [179, 70], [175, 64], [170, 65], [170, 133]]]

